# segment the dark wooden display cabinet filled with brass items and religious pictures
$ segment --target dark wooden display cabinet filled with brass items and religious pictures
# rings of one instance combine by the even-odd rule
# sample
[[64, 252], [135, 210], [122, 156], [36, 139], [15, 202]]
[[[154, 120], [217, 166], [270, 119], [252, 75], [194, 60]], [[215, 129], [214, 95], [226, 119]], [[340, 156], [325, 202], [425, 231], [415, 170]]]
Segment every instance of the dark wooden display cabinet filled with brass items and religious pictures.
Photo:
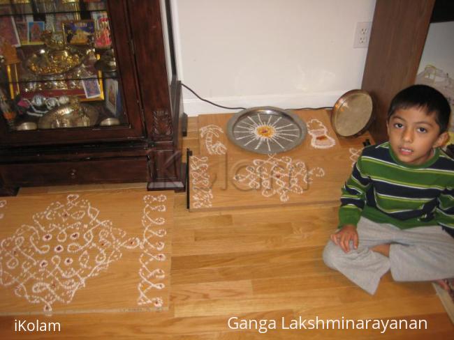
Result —
[[[122, 182], [184, 190], [180, 137], [186, 115], [170, 1], [0, 3], [3, 22], [13, 22], [16, 30], [27, 26], [26, 34], [17, 33], [19, 43], [2, 46], [7, 58], [0, 83], [0, 194], [27, 186]], [[53, 30], [54, 45], [31, 38], [34, 25]], [[107, 40], [97, 41], [106, 28]], [[64, 45], [54, 38], [58, 34]], [[50, 57], [63, 52], [80, 52], [82, 63], [71, 68], [51, 59], [56, 70], [47, 72]], [[114, 125], [105, 125], [109, 122]], [[21, 130], [27, 127], [32, 130]]]

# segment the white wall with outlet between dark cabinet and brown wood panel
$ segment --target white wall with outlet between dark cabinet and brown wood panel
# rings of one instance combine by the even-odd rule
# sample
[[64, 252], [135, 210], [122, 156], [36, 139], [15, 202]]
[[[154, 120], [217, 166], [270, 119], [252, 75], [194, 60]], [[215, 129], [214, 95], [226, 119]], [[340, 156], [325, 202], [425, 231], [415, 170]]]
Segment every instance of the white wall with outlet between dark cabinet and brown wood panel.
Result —
[[[375, 0], [173, 0], [177, 68], [184, 84], [224, 106], [334, 105], [360, 88], [367, 49], [356, 22]], [[190, 116], [228, 111], [184, 90]]]

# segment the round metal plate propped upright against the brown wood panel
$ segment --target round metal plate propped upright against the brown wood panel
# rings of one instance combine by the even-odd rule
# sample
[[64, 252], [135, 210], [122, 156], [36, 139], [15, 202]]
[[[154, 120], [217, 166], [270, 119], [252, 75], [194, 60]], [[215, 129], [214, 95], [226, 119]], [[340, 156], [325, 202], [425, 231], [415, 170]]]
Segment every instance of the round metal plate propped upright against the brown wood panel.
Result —
[[344, 93], [332, 107], [331, 125], [341, 137], [357, 137], [372, 123], [372, 98], [363, 90]]

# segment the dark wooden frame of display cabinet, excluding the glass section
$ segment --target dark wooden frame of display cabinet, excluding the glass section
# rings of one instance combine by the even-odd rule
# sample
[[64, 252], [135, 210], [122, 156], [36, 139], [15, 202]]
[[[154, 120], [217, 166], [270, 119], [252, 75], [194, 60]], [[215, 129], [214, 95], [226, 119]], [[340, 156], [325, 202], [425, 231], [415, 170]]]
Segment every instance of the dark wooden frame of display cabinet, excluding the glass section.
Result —
[[[147, 182], [149, 190], [184, 190], [181, 83], [168, 82], [159, 0], [108, 0], [110, 30], [128, 123], [112, 127], [10, 131], [0, 120], [0, 195], [17, 187], [84, 183]], [[124, 164], [138, 160], [133, 173]], [[93, 161], [94, 163], [91, 163]], [[102, 164], [95, 171], [94, 164]], [[64, 162], [67, 180], [36, 176], [15, 183], [11, 169], [58, 169]], [[74, 167], [69, 164], [73, 162]], [[108, 165], [111, 164], [111, 165]], [[144, 165], [145, 164], [145, 165]], [[61, 164], [60, 164], [61, 165]], [[118, 171], [112, 176], [110, 171]], [[105, 178], [103, 178], [105, 171]], [[45, 171], [43, 171], [44, 173]], [[83, 173], [83, 176], [78, 174]], [[29, 176], [33, 177], [32, 173]]]

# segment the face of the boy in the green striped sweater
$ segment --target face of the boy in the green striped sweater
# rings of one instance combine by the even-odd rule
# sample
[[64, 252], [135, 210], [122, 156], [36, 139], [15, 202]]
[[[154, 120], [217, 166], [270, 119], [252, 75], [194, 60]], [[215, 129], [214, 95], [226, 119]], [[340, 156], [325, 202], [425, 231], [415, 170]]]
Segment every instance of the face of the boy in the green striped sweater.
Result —
[[419, 107], [395, 111], [387, 127], [394, 154], [407, 164], [418, 165], [430, 160], [433, 148], [448, 140], [446, 132], [440, 134], [435, 114], [426, 114]]

